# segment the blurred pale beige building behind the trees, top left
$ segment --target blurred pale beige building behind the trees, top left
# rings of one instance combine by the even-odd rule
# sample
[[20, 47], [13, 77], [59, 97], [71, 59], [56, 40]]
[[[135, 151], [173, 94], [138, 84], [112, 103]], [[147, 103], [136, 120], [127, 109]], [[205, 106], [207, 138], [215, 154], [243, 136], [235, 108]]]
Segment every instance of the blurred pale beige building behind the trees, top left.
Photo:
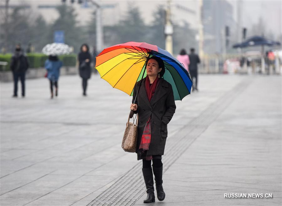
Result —
[[[55, 21], [59, 14], [56, 7], [65, 3], [72, 6], [77, 14], [79, 24], [85, 25], [91, 20], [92, 13], [96, 10], [96, 6], [91, 1], [98, 3], [102, 8], [102, 19], [104, 25], [112, 25], [123, 19], [129, 7], [138, 7], [141, 17], [146, 24], [150, 24], [153, 20], [154, 12], [159, 6], [165, 8], [167, 1], [114, 1], [114, 0], [13, 0], [9, 1], [9, 8], [21, 6], [30, 8], [33, 12], [41, 14], [47, 23]], [[149, 4], [148, 4], [149, 3]], [[1, 1], [1, 8], [4, 8], [5, 0]], [[171, 11], [173, 21], [177, 24], [182, 24], [186, 21], [191, 25], [191, 28], [198, 28], [198, 3], [194, 1], [172, 1]]]

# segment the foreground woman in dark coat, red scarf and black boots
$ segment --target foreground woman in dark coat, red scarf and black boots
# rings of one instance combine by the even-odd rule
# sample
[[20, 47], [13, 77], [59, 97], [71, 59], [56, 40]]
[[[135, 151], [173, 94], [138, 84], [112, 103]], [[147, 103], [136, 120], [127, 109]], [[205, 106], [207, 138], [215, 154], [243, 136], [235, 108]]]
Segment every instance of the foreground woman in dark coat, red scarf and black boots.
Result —
[[[147, 77], [136, 82], [133, 89], [133, 101], [140, 87], [135, 104], [130, 109], [138, 113], [137, 159], [143, 161], [143, 177], [147, 188], [144, 203], [155, 201], [154, 179], [157, 198], [165, 199], [162, 186], [163, 163], [167, 138], [167, 124], [175, 113], [175, 100], [172, 86], [162, 77], [165, 73], [164, 62], [159, 57], [151, 57], [146, 62]], [[153, 171], [151, 162], [153, 161]]]

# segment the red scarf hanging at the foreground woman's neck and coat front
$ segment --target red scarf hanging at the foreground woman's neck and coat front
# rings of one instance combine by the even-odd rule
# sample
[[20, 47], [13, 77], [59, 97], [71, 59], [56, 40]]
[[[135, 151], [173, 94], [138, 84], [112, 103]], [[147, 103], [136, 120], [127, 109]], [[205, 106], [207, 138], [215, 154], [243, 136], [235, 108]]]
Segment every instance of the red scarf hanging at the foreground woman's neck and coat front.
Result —
[[[151, 86], [150, 86], [149, 77], [148, 76], [146, 77], [145, 89], [146, 89], [146, 93], [147, 93], [147, 97], [149, 99], [149, 102], [151, 101], [158, 85], [159, 85], [159, 78], [158, 77], [154, 80], [154, 82], [152, 83]], [[139, 149], [143, 150], [143, 154], [144, 154], [144, 151], [149, 150], [149, 145], [151, 143], [151, 121], [150, 120], [151, 120], [151, 117], [149, 117], [149, 119], [148, 119], [148, 121], [147, 121], [147, 123], [144, 127], [143, 135], [142, 135], [142, 138], [141, 138], [141, 143], [140, 143], [140, 146], [139, 146]], [[151, 155], [146, 156], [146, 160], [151, 160], [152, 158], [153, 157]]]

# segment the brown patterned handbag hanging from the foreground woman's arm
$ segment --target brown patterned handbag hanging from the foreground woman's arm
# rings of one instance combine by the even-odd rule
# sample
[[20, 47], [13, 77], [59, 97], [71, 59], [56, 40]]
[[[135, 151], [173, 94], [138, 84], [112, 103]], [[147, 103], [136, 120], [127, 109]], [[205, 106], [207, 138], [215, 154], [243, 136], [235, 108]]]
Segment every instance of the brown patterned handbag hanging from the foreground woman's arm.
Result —
[[[137, 116], [137, 118], [136, 118]], [[126, 152], [135, 152], [137, 146], [137, 135], [138, 135], [138, 114], [133, 118], [133, 123], [129, 122], [130, 116], [128, 117], [128, 121], [126, 123], [125, 132], [123, 135], [122, 148]], [[134, 124], [134, 120], [136, 119], [136, 124]]]

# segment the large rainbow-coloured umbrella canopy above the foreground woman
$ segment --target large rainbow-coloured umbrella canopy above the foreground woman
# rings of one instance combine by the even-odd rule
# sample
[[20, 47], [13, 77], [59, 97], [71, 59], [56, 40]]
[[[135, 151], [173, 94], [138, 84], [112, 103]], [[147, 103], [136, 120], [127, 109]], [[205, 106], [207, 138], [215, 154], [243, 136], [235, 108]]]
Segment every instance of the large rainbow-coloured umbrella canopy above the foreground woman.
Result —
[[149, 57], [160, 57], [165, 64], [163, 78], [173, 88], [174, 99], [190, 94], [192, 81], [185, 67], [168, 51], [145, 42], [127, 42], [104, 49], [96, 58], [96, 69], [112, 87], [133, 95], [136, 82], [146, 77], [145, 64]]

